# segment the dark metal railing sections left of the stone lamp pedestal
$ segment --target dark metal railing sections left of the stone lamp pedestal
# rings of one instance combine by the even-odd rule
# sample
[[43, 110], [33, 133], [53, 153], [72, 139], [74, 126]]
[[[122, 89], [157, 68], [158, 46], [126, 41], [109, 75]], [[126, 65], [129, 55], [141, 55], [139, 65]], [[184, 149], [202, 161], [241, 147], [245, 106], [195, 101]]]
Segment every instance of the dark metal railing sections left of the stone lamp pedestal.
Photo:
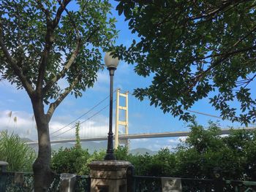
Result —
[[[60, 174], [56, 174], [49, 192], [60, 191]], [[75, 192], [89, 192], [91, 179], [87, 175], [76, 176]], [[0, 191], [32, 192], [34, 191], [34, 175], [25, 172], [0, 172]]]

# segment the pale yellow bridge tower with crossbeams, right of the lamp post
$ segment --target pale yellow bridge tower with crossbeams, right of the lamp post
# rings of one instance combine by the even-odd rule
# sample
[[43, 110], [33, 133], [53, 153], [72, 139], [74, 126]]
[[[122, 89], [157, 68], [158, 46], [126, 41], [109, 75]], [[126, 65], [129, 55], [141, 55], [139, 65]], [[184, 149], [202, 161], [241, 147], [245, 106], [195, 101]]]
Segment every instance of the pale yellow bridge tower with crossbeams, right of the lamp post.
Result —
[[[119, 126], [124, 126], [124, 134], [128, 134], [128, 91], [126, 93], [120, 93], [118, 88], [116, 91], [116, 128], [115, 128], [115, 149], [117, 149], [119, 142], [128, 147], [128, 139], [118, 139]], [[125, 106], [120, 106], [120, 97], [124, 97]], [[124, 120], [119, 120], [119, 110], [124, 110]]]

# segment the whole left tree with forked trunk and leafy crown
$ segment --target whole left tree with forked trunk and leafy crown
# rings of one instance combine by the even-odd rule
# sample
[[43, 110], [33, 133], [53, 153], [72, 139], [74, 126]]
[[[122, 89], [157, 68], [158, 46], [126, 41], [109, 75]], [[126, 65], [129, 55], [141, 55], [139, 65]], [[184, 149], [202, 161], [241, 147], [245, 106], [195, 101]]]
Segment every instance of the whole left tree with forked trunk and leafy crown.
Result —
[[[53, 180], [49, 137], [53, 112], [69, 93], [82, 96], [93, 86], [102, 69], [99, 48], [108, 50], [116, 38], [116, 20], [108, 13], [107, 0], [1, 1], [1, 79], [26, 90], [37, 123], [35, 191], [47, 191]], [[66, 88], [61, 87], [63, 82]]]

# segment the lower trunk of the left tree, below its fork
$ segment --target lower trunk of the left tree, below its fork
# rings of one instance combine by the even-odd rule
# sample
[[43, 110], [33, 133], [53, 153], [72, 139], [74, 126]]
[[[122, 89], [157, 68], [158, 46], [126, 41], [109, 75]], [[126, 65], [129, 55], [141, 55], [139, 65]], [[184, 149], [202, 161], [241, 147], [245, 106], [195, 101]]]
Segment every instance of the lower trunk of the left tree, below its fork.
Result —
[[48, 191], [50, 183], [53, 182], [53, 172], [50, 170], [50, 135], [49, 121], [44, 113], [42, 101], [32, 101], [34, 117], [37, 123], [38, 155], [33, 164], [34, 191]]

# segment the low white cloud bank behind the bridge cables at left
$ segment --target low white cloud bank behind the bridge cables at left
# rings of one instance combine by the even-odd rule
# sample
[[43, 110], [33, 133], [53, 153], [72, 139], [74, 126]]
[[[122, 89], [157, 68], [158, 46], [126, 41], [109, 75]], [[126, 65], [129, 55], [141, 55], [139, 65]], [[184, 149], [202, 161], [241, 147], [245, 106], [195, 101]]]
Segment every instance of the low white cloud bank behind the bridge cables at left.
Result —
[[[33, 114], [23, 111], [13, 111], [11, 117], [9, 117], [9, 115], [10, 110], [0, 111], [0, 131], [7, 130], [18, 134], [20, 137], [37, 140], [37, 129], [34, 118], [32, 118]], [[16, 118], [17, 121], [15, 121], [14, 118]], [[63, 128], [74, 119], [75, 118], [70, 115], [54, 117], [53, 120], [50, 121], [49, 125], [50, 134], [54, 131], [57, 132], [51, 136], [51, 139], [75, 138], [75, 128], [72, 128], [75, 123]], [[83, 119], [80, 121], [82, 122]], [[59, 130], [60, 128], [63, 129]], [[67, 131], [68, 129], [70, 129], [70, 131]], [[58, 134], [61, 135], [53, 137]], [[86, 120], [86, 122], [82, 123], [80, 126], [80, 137], [99, 137], [106, 136], [107, 134], [108, 118], [103, 115], [97, 115], [94, 119]]]

